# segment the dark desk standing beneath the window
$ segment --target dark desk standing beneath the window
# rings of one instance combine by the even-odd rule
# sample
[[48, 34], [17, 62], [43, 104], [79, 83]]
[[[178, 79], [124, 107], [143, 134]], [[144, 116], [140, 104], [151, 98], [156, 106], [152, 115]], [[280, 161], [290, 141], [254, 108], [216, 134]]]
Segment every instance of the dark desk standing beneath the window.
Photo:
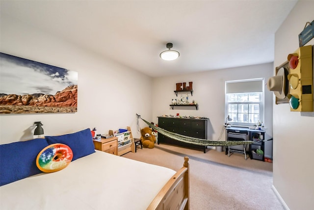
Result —
[[[226, 127], [226, 141], [253, 141], [253, 144], [250, 144], [249, 147], [244, 146], [231, 146], [226, 147], [226, 154], [230, 156], [231, 152], [243, 153], [246, 159], [246, 154], [248, 153], [251, 159], [257, 159], [264, 161], [264, 140], [265, 140], [265, 131], [250, 129], [244, 127]], [[258, 155], [253, 153], [252, 150], [260, 149], [264, 152], [263, 155]]]

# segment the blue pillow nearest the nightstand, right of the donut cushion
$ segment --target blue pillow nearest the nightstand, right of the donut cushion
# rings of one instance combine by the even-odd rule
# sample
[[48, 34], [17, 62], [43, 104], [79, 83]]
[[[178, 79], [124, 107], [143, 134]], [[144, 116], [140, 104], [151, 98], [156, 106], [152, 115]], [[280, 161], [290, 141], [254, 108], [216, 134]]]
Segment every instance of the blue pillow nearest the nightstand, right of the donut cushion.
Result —
[[92, 133], [89, 128], [61, 136], [45, 136], [48, 144], [61, 143], [73, 151], [72, 161], [95, 152]]

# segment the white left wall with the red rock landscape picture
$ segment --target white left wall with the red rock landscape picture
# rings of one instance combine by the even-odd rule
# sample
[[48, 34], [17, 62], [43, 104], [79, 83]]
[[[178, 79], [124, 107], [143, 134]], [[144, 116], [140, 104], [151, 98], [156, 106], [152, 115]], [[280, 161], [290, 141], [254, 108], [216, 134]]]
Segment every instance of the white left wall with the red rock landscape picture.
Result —
[[152, 107], [143, 103], [152, 98], [150, 77], [3, 14], [0, 27], [2, 53], [78, 71], [77, 113], [2, 114], [1, 144], [32, 139], [34, 121], [42, 121], [45, 135], [131, 126], [134, 137], [140, 136], [135, 114], [151, 119]]

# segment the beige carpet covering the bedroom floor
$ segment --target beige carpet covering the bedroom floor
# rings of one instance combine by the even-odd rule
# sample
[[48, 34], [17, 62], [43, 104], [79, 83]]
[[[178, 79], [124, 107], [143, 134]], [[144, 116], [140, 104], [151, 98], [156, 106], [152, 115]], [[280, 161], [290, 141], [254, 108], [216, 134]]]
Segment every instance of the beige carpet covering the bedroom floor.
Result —
[[161, 144], [123, 155], [176, 171], [184, 156], [190, 164], [191, 210], [284, 210], [272, 190], [272, 163], [245, 160], [243, 154], [228, 157], [224, 151], [203, 153]]

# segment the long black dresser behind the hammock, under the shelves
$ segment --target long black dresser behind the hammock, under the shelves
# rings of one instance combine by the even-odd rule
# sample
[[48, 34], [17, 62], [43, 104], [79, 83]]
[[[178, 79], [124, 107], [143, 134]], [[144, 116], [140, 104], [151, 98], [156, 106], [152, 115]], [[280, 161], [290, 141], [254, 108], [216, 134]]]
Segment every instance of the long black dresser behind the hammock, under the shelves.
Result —
[[[170, 132], [200, 139], [207, 139], [207, 123], [208, 119], [158, 117], [158, 127], [161, 127]], [[206, 153], [207, 148], [206, 146], [193, 145], [170, 139], [160, 133], [158, 133], [158, 144], [159, 143], [180, 146], [194, 150], [203, 150], [204, 153]]]

